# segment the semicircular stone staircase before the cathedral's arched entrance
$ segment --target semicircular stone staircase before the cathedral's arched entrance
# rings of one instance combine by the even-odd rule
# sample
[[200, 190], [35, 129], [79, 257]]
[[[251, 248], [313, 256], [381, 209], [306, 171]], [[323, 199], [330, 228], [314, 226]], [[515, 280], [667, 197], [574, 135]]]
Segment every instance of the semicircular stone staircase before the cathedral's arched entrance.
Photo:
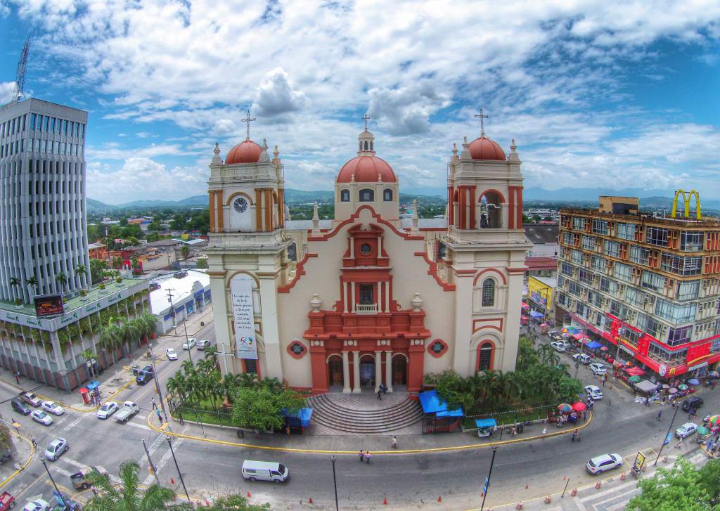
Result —
[[316, 435], [421, 433], [423, 410], [406, 392], [385, 394], [318, 394], [307, 399]]

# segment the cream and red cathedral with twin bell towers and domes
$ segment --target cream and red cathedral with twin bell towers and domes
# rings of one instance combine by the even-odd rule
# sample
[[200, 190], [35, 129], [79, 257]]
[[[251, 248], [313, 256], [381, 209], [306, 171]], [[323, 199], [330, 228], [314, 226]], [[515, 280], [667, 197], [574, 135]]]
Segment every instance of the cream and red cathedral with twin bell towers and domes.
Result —
[[[266, 140], [210, 163], [208, 273], [220, 367], [298, 390], [418, 392], [423, 376], [515, 368], [523, 176], [485, 136], [453, 145], [443, 218], [400, 215], [400, 182], [367, 129], [334, 181], [335, 218], [291, 220]], [[367, 123], [367, 119], [365, 119]], [[348, 153], [352, 150], [348, 144]], [[407, 208], [408, 206], [404, 206]]]

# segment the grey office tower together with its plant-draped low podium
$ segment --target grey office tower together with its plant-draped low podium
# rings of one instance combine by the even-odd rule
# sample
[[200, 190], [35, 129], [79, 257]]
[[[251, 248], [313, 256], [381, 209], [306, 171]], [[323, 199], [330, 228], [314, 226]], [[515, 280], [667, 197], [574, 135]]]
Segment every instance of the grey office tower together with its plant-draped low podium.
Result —
[[[99, 343], [109, 317], [147, 310], [147, 281], [91, 286], [86, 122], [87, 112], [40, 99], [0, 106], [0, 364], [67, 390], [88, 377], [86, 350], [99, 369], [122, 356]], [[38, 316], [41, 294], [63, 294], [62, 310]]]

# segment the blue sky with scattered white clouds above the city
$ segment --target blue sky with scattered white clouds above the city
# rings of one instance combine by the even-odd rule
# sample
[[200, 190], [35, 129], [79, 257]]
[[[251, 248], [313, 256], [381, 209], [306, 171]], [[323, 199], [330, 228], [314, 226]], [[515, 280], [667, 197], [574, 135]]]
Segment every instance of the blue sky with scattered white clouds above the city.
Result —
[[526, 187], [720, 198], [720, 2], [0, 0], [0, 104], [89, 112], [88, 196], [207, 192], [221, 155], [279, 146], [333, 189], [361, 116], [401, 191], [443, 193], [453, 143], [513, 137]]

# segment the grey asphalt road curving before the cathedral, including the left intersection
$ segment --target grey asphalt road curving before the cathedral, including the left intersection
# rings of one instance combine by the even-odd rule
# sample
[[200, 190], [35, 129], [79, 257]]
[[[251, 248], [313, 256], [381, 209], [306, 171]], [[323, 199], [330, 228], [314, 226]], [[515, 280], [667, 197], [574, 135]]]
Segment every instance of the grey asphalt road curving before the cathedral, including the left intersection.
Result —
[[[197, 334], [198, 338], [213, 339], [212, 325]], [[158, 348], [174, 347], [181, 353], [179, 361], [162, 361], [158, 364], [161, 381], [174, 374], [187, 353], [181, 351], [183, 338], [168, 340]], [[193, 351], [193, 356], [202, 352]], [[579, 376], [586, 383], [597, 383], [590, 371], [580, 368]], [[164, 385], [163, 385], [164, 388]], [[631, 402], [628, 392], [617, 384], [608, 382], [604, 389], [606, 398], [595, 404], [595, 420], [586, 428], [582, 443], [572, 443], [569, 436], [534, 440], [526, 443], [500, 446], [492, 471], [492, 484], [487, 496], [486, 509], [492, 505], [536, 497], [541, 494], [562, 491], [595, 481], [585, 474], [585, 462], [601, 453], [620, 453], [632, 463], [640, 448], [660, 448], [662, 438], [672, 417], [672, 408], [662, 407], [662, 421], [655, 420], [657, 405], [644, 407]], [[0, 397], [6, 399], [14, 389], [0, 387]], [[148, 428], [145, 416], [150, 410], [150, 397], [154, 395], [151, 384], [132, 386], [118, 397], [118, 401], [132, 399], [143, 410], [131, 422], [120, 425], [114, 420], [98, 420], [92, 413], [69, 411], [59, 417], [50, 428], [44, 428], [27, 417], [19, 418], [22, 430], [32, 433], [40, 447], [58, 436], [70, 443], [70, 451], [60, 460], [49, 462], [50, 471], [58, 486], [70, 487], [69, 475], [79, 465], [102, 465], [117, 474], [118, 466], [127, 458], [140, 461], [141, 481], [150, 482], [147, 460], [142, 440], [148, 443], [153, 461], [163, 484], [171, 484], [183, 493], [171, 453], [163, 435]], [[703, 392], [706, 405], [701, 414], [720, 410], [720, 394]], [[7, 405], [9, 406], [9, 405]], [[6, 412], [9, 417], [12, 412]], [[17, 418], [17, 414], [14, 414]], [[686, 422], [687, 415], [678, 413], [673, 430]], [[188, 426], [184, 430], [188, 430]], [[555, 426], [549, 428], [555, 430]], [[532, 430], [541, 433], [542, 426]], [[174, 430], [178, 431], [177, 426]], [[182, 432], [183, 429], [180, 429]], [[194, 430], [192, 430], [192, 434]], [[402, 442], [401, 438], [401, 442]], [[412, 447], [400, 445], [400, 448]], [[348, 443], [348, 449], [354, 449]], [[176, 439], [174, 449], [184, 481], [193, 497], [212, 496], [222, 493], [251, 492], [253, 502], [270, 502], [274, 509], [297, 509], [307, 507], [312, 497], [317, 509], [333, 509], [333, 472], [330, 456], [307, 453], [282, 453], [257, 449], [235, 448], [195, 440]], [[672, 446], [666, 447], [668, 452]], [[677, 451], [675, 451], [677, 453]], [[482, 483], [490, 468], [492, 451], [489, 448], [420, 453], [408, 455], [376, 455], [371, 463], [361, 463], [357, 456], [338, 456], [336, 476], [338, 499], [341, 509], [372, 509], [382, 507], [387, 497], [389, 507], [422, 509], [438, 508], [437, 499], [443, 499], [444, 509], [469, 509], [480, 507]], [[20, 494], [24, 505], [27, 498], [44, 494], [50, 496], [50, 481], [40, 461], [36, 459], [14, 479], [9, 491]], [[291, 471], [287, 484], [248, 483], [240, 476], [243, 459], [282, 461]], [[654, 461], [654, 460], [649, 460]], [[616, 476], [619, 476], [619, 471]], [[567, 479], [570, 478], [570, 481]], [[527, 489], [526, 489], [527, 485]], [[74, 490], [70, 493], [75, 493]]]

